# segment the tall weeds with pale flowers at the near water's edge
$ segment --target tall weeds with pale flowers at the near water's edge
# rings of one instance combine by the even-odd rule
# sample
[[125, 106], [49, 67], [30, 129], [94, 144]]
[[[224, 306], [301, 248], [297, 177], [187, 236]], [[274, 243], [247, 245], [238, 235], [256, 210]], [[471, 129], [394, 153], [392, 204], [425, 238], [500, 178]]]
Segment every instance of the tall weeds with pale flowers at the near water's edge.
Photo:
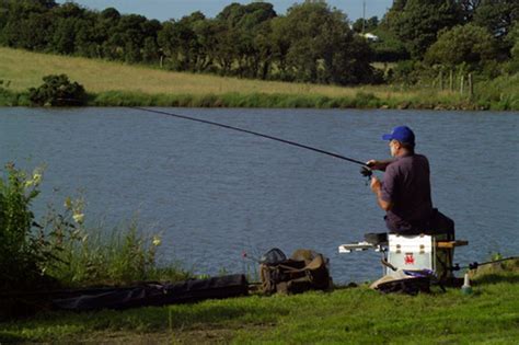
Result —
[[7, 164], [0, 179], [0, 289], [124, 285], [183, 280], [189, 274], [157, 264], [158, 234], [137, 221], [112, 232], [85, 226], [84, 202], [67, 198], [61, 212], [50, 209], [38, 222], [31, 210], [43, 170], [32, 174]]

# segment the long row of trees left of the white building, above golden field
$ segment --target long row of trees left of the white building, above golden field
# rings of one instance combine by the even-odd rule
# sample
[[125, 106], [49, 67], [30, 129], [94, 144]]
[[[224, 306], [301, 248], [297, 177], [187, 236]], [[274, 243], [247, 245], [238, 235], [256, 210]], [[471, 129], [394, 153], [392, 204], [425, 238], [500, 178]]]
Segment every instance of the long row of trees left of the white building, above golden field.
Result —
[[376, 79], [367, 42], [323, 1], [296, 4], [284, 16], [267, 2], [232, 3], [215, 19], [195, 12], [163, 23], [54, 0], [7, 0], [2, 8], [0, 43], [10, 47], [269, 80]]

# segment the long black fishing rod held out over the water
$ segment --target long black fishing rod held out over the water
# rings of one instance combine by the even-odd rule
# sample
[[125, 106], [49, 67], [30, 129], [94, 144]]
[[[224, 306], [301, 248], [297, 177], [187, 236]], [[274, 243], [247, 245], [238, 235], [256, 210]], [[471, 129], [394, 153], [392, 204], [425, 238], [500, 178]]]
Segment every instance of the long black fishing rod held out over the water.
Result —
[[218, 126], [218, 127], [222, 127], [222, 128], [227, 128], [227, 129], [231, 129], [231, 130], [242, 131], [242, 133], [251, 134], [253, 136], [257, 136], [257, 137], [262, 137], [262, 138], [266, 138], [266, 139], [288, 143], [288, 145], [291, 145], [291, 146], [296, 146], [296, 147], [299, 147], [299, 148], [303, 148], [303, 149], [307, 149], [307, 150], [315, 151], [315, 152], [319, 152], [319, 153], [332, 156], [332, 157], [335, 157], [335, 158], [338, 158], [338, 159], [342, 159], [342, 160], [345, 160], [345, 161], [348, 161], [348, 162], [351, 162], [351, 163], [355, 163], [355, 164], [359, 164], [359, 165], [362, 166], [361, 171], [360, 171], [362, 175], [368, 176], [368, 177], [371, 175], [371, 169], [369, 169], [368, 165], [366, 165], [365, 162], [361, 162], [359, 160], [348, 158], [348, 157], [345, 157], [345, 156], [342, 156], [342, 154], [338, 154], [338, 153], [321, 150], [321, 149], [318, 149], [318, 148], [314, 148], [314, 147], [311, 147], [311, 146], [308, 146], [308, 145], [302, 145], [302, 143], [299, 143], [299, 142], [295, 142], [295, 141], [290, 141], [290, 140], [286, 140], [286, 139], [264, 135], [264, 134], [253, 131], [253, 130], [249, 130], [249, 129], [243, 129], [243, 128], [239, 128], [239, 127], [234, 127], [234, 126], [223, 125], [223, 124], [215, 123], [215, 122], [207, 120], [207, 119], [200, 119], [200, 118], [185, 116], [185, 115], [166, 113], [166, 112], [162, 112], [162, 111], [149, 110], [149, 108], [139, 107], [139, 106], [129, 106], [129, 108], [139, 110], [139, 111], [143, 111], [143, 112], [149, 112], [149, 113], [168, 115], [168, 116], [172, 116], [172, 117], [176, 117], [176, 118], [182, 118], [182, 119], [193, 120], [193, 122], [203, 123], [203, 124], [207, 124], [207, 125]]

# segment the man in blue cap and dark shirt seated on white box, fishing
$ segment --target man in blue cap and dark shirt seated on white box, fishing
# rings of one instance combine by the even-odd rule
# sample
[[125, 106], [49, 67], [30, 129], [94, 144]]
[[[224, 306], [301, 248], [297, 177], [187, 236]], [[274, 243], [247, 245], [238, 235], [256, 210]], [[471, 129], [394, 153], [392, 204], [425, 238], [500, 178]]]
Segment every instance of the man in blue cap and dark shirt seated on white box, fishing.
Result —
[[429, 162], [425, 156], [415, 153], [413, 130], [399, 126], [382, 139], [389, 141], [393, 159], [370, 160], [366, 164], [372, 170], [384, 171], [382, 182], [373, 175], [370, 186], [378, 205], [385, 210], [390, 232], [448, 233], [453, 238], [453, 221], [432, 208]]

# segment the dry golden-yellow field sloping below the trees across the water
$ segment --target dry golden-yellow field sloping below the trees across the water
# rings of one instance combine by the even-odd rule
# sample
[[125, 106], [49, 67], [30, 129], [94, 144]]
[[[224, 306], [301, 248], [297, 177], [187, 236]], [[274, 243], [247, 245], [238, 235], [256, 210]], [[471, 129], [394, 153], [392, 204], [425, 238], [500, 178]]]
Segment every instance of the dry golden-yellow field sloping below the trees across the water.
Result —
[[128, 91], [174, 94], [285, 93], [345, 96], [353, 88], [223, 78], [172, 72], [105, 60], [31, 53], [0, 47], [0, 79], [23, 91], [42, 83], [46, 74], [66, 73], [89, 92]]

